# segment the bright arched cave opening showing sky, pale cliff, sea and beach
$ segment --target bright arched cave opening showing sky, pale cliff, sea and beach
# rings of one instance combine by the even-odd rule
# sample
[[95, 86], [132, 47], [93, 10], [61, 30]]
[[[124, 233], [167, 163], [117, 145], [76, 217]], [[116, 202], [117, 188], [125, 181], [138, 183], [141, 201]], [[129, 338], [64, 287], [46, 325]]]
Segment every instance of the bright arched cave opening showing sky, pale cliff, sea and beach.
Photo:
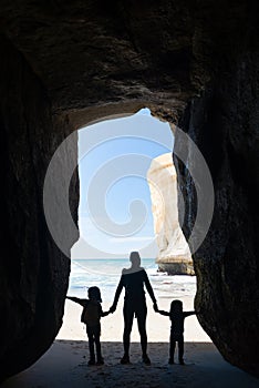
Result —
[[[148, 109], [79, 131], [80, 238], [71, 249], [69, 295], [84, 298], [97, 285], [107, 309], [122, 269], [130, 266], [130, 253], [138, 251], [159, 306], [169, 309], [172, 299], [179, 298], [185, 309], [194, 308], [196, 276], [190, 276], [191, 256], [178, 221], [173, 149], [169, 123], [153, 118]], [[147, 303], [153, 310], [149, 297]], [[69, 338], [71, 314], [79, 315], [79, 306], [68, 302], [58, 338]], [[107, 320], [114, 327], [113, 317]], [[80, 323], [73, 325], [80, 333]], [[187, 327], [195, 327], [196, 339], [210, 340], [195, 317]], [[120, 340], [117, 330], [110, 339]], [[153, 329], [149, 340], [158, 339]]]

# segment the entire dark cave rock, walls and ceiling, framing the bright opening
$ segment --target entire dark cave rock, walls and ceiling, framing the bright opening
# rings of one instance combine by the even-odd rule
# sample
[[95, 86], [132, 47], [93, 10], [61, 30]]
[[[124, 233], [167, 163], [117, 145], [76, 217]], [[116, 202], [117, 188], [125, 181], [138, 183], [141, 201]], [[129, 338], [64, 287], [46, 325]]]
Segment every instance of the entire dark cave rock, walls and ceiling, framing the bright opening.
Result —
[[[214, 219], [193, 255], [198, 319], [227, 360], [257, 371], [257, 3], [13, 0], [0, 19], [1, 378], [35, 361], [62, 320], [69, 259], [42, 210], [52, 154], [81, 125], [143, 106], [188, 133], [210, 169]], [[188, 146], [176, 131], [187, 239], [197, 213]], [[74, 157], [68, 150], [68, 165]], [[70, 188], [75, 213], [76, 177]]]

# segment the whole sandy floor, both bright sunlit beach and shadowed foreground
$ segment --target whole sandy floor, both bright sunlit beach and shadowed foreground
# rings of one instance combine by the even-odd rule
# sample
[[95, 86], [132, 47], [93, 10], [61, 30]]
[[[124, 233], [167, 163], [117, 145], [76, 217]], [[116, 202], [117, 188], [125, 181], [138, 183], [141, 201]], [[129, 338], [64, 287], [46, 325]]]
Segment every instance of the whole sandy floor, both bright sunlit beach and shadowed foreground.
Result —
[[[193, 309], [193, 298], [182, 300], [185, 310]], [[168, 309], [169, 302], [159, 298], [159, 308]], [[168, 365], [169, 319], [155, 314], [149, 302], [147, 334], [152, 365], [142, 363], [136, 321], [132, 334], [131, 364], [121, 365], [122, 303], [113, 315], [102, 318], [104, 366], [87, 366], [85, 328], [80, 323], [81, 307], [68, 300], [64, 324], [49, 351], [32, 367], [7, 380], [1, 388], [259, 387], [258, 379], [222, 359], [195, 316], [186, 318], [186, 365]], [[104, 310], [108, 307], [110, 304], [103, 304]]]

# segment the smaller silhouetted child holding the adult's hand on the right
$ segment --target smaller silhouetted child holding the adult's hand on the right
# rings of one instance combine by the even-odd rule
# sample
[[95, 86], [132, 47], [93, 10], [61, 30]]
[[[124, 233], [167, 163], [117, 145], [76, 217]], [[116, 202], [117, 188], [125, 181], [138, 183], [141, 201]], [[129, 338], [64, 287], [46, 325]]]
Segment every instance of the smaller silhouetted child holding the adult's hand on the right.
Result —
[[159, 310], [158, 308], [155, 310], [160, 315], [169, 317], [172, 320], [168, 363], [174, 364], [175, 346], [178, 343], [178, 359], [179, 364], [184, 365], [184, 320], [189, 315], [196, 314], [196, 312], [183, 312], [183, 303], [178, 299], [172, 302], [169, 313]]

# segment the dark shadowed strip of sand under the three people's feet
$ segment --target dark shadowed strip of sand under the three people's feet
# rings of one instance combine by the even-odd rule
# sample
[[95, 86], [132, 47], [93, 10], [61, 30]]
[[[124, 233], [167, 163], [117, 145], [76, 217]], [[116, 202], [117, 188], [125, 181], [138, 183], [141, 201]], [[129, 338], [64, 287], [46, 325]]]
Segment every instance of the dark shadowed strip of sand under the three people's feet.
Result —
[[[121, 365], [121, 343], [102, 343], [104, 366], [87, 366], [87, 343], [55, 340], [32, 367], [1, 388], [228, 387], [256, 388], [259, 380], [226, 363], [209, 343], [186, 343], [186, 365], [168, 365], [168, 344], [149, 343], [151, 366], [142, 363], [141, 345], [131, 346], [131, 364]], [[177, 359], [176, 359], [177, 363]]]

